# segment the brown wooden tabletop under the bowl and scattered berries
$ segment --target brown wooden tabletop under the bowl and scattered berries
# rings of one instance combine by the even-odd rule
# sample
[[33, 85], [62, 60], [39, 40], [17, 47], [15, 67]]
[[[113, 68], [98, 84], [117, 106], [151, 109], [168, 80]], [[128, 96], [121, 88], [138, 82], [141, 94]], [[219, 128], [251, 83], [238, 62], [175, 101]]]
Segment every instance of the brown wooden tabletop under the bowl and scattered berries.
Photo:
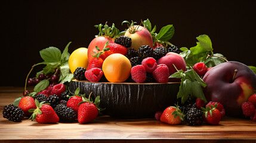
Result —
[[22, 95], [21, 87], [0, 87], [0, 142], [256, 142], [256, 122], [224, 117], [220, 125], [167, 125], [155, 119], [98, 116], [91, 123], [20, 123], [2, 117], [5, 105]]

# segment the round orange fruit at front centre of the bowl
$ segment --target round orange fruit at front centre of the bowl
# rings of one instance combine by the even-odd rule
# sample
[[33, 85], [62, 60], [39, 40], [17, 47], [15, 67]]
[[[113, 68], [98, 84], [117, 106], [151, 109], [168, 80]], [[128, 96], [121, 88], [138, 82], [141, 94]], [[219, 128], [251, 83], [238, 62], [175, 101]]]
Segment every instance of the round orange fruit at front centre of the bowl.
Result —
[[124, 82], [131, 73], [131, 62], [122, 54], [112, 54], [103, 61], [102, 70], [109, 82]]

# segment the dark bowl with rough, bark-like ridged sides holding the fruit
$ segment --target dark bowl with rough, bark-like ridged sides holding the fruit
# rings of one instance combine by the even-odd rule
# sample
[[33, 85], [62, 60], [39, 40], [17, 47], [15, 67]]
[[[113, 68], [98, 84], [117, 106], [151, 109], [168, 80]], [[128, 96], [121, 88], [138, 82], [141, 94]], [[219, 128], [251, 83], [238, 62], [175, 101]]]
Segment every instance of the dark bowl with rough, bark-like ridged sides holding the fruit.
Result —
[[177, 103], [180, 83], [111, 83], [72, 80], [70, 91], [80, 88], [81, 94], [88, 98], [100, 96], [103, 113], [112, 117], [134, 119], [154, 117], [156, 111], [163, 111]]

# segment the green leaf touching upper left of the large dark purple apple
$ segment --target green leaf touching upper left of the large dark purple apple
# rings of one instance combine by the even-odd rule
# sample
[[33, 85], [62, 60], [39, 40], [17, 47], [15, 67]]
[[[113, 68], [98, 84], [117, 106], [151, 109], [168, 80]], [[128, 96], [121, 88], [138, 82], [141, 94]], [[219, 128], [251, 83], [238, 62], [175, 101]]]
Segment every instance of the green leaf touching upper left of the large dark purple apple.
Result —
[[218, 53], [214, 54], [214, 55], [218, 56], [218, 57], [214, 57], [214, 56], [207, 57], [206, 60], [203, 62], [203, 63], [205, 63], [205, 66], [214, 67], [214, 66], [217, 66], [218, 64], [225, 62], [225, 60], [223, 60], [222, 58], [219, 58], [219, 57], [226, 58], [226, 57], [224, 57], [224, 55], [218, 54]]

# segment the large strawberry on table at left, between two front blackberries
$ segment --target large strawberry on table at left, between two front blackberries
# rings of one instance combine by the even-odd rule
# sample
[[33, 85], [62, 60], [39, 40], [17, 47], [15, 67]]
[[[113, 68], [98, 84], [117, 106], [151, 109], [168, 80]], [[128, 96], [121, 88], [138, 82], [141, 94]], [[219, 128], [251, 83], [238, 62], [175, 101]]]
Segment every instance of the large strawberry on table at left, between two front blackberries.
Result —
[[29, 110], [30, 113], [33, 113], [29, 119], [36, 120], [38, 123], [57, 123], [60, 119], [53, 107], [44, 102], [39, 103], [38, 100], [35, 100], [36, 108]]

